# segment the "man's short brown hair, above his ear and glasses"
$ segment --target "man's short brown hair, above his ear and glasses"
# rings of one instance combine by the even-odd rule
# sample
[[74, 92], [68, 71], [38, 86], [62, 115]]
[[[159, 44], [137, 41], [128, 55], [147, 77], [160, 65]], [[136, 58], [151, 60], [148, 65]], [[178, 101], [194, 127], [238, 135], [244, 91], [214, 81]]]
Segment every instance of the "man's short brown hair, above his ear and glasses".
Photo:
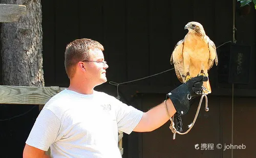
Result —
[[104, 48], [99, 42], [87, 38], [74, 40], [67, 45], [65, 51], [65, 69], [69, 78], [75, 75], [79, 62], [91, 60], [92, 53], [90, 51], [94, 50], [100, 50], [102, 52]]

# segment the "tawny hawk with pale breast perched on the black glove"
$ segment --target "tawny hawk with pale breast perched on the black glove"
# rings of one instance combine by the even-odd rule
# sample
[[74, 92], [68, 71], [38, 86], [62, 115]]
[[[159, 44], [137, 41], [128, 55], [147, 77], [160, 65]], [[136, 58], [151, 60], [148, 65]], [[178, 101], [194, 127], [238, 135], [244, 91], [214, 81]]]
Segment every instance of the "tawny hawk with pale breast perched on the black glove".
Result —
[[[188, 33], [180, 40], [170, 57], [170, 64], [174, 64], [175, 72], [180, 82], [186, 82], [190, 77], [200, 73], [208, 76], [208, 70], [218, 65], [216, 46], [206, 36], [203, 26], [199, 22], [188, 22], [185, 28]], [[211, 93], [209, 77], [204, 82], [204, 94]]]

